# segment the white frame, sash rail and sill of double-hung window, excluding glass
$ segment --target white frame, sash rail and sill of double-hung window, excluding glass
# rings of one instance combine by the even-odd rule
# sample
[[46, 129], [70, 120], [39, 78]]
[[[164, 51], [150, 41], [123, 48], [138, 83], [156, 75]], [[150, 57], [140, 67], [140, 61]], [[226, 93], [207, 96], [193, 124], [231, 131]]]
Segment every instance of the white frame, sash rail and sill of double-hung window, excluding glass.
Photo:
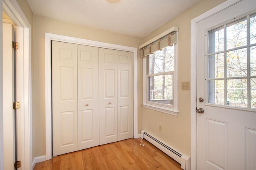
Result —
[[[158, 104], [156, 102], [150, 102], [148, 101], [148, 77], [149, 76], [155, 76], [156, 74], [161, 74], [163, 75], [163, 73], [156, 73], [156, 74], [147, 74], [148, 71], [148, 62], [147, 62], [147, 57], [143, 57], [142, 59], [142, 80], [143, 80], [143, 107], [147, 108], [147, 109], [152, 109], [155, 111], [160, 111], [162, 113], [166, 113], [166, 114], [170, 114], [170, 115], [174, 115], [174, 116], [178, 116], [178, 57], [177, 57], [177, 49], [178, 49], [178, 43], [174, 43], [174, 71], [170, 71], [172, 72], [172, 76], [173, 76], [173, 103], [172, 106], [163, 106], [162, 104]], [[168, 73], [168, 72], [167, 72]], [[164, 74], [167, 74], [164, 73]]]

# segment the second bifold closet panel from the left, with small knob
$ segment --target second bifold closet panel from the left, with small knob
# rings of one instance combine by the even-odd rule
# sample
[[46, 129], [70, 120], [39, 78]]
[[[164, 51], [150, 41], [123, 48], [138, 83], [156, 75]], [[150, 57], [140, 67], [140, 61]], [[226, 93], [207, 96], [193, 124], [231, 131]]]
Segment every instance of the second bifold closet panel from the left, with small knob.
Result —
[[78, 45], [78, 150], [99, 145], [98, 47]]

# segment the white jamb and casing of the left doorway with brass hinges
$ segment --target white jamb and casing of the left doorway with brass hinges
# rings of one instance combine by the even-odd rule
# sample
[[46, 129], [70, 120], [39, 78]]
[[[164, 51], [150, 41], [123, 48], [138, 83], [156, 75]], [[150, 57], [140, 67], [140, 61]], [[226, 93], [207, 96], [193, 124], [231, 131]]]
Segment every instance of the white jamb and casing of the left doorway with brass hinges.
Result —
[[[1, 0], [0, 2], [0, 27], [2, 27], [2, 11], [10, 17], [16, 25], [16, 41], [19, 42], [17, 56], [17, 100], [20, 102], [20, 109], [17, 110], [19, 115], [18, 132], [18, 160], [22, 162], [22, 169], [31, 169], [32, 166], [32, 103], [31, 103], [31, 27], [26, 16], [22, 12], [16, 0]], [[0, 66], [2, 65], [2, 29], [0, 35]], [[2, 66], [1, 66], [2, 68]], [[2, 72], [0, 69], [0, 84], [2, 82]], [[2, 89], [0, 89], [0, 106], [2, 106]], [[2, 108], [2, 107], [1, 107]], [[2, 117], [3, 110], [0, 110], [1, 130], [0, 130], [0, 147], [3, 147]], [[3, 150], [0, 150], [0, 169], [3, 169]]]

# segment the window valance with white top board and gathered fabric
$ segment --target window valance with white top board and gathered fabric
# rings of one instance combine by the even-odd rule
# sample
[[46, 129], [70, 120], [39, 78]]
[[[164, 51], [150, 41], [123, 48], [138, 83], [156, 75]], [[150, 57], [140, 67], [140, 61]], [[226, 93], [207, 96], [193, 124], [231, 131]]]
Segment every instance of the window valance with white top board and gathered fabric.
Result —
[[150, 53], [154, 53], [155, 51], [161, 50], [168, 45], [171, 46], [177, 43], [177, 31], [178, 27], [172, 27], [165, 31], [164, 33], [154, 37], [153, 39], [147, 41], [146, 43], [139, 46], [142, 50], [142, 58], [146, 57]]

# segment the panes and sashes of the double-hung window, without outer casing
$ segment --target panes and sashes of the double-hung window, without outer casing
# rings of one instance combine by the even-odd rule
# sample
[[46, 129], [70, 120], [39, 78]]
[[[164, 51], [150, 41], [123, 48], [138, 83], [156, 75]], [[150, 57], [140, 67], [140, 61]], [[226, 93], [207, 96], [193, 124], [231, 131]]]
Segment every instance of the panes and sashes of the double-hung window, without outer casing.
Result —
[[149, 55], [147, 63], [148, 102], [173, 106], [174, 46]]

